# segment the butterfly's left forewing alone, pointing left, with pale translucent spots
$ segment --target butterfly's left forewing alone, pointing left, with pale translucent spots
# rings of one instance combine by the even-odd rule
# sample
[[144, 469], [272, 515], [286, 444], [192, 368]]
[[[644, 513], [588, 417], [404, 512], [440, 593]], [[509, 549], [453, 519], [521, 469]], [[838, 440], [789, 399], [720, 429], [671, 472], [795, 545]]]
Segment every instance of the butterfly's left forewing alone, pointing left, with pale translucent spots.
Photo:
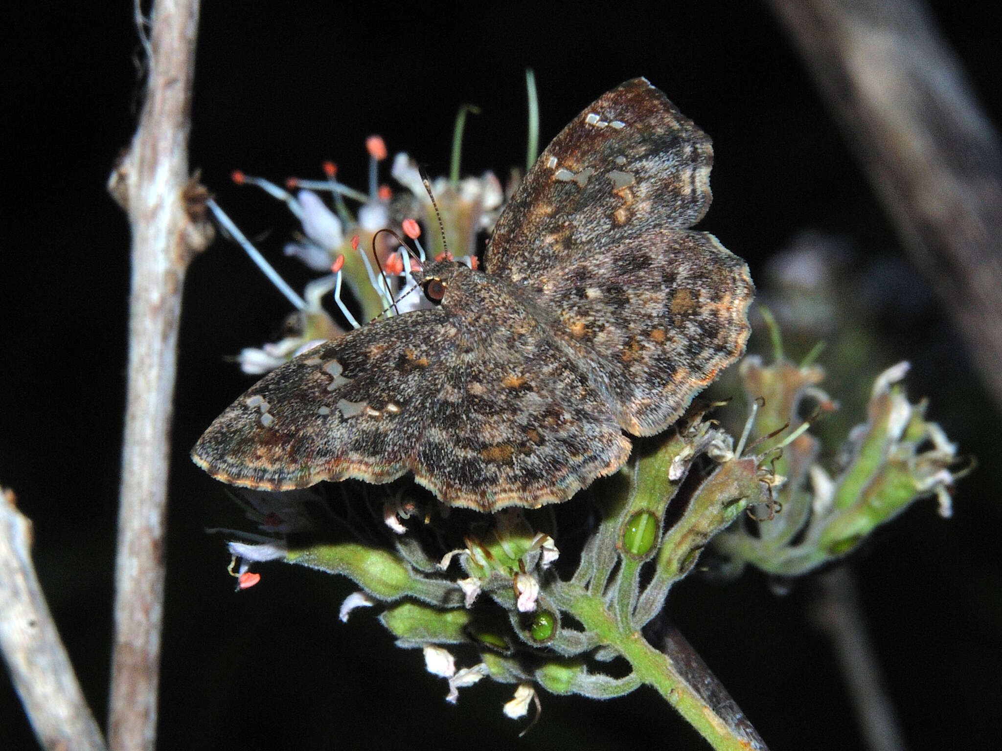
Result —
[[442, 308], [383, 318], [301, 354], [216, 418], [192, 458], [264, 490], [400, 477], [433, 410], [428, 371], [451, 355], [450, 318]]

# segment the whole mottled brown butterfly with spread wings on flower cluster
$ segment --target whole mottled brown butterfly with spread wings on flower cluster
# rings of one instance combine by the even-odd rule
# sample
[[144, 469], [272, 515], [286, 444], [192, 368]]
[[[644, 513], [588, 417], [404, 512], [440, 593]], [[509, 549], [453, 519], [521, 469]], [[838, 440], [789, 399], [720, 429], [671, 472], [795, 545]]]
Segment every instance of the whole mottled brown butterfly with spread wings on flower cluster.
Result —
[[444, 503], [558, 503], [627, 460], [744, 350], [744, 262], [690, 229], [709, 138], [643, 78], [581, 112], [519, 184], [484, 253], [414, 272], [433, 306], [376, 319], [266, 376], [191, 456], [291, 490], [407, 473]]

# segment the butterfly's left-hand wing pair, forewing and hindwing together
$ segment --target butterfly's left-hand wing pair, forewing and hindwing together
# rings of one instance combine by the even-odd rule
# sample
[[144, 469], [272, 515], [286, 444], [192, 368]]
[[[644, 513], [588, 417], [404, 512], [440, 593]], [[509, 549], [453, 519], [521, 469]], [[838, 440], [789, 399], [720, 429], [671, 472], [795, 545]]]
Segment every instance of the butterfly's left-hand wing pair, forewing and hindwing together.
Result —
[[505, 314], [519, 320], [415, 311], [311, 349], [223, 412], [192, 458], [264, 490], [413, 471], [453, 506], [564, 501], [618, 469], [629, 441], [585, 369], [533, 318]]

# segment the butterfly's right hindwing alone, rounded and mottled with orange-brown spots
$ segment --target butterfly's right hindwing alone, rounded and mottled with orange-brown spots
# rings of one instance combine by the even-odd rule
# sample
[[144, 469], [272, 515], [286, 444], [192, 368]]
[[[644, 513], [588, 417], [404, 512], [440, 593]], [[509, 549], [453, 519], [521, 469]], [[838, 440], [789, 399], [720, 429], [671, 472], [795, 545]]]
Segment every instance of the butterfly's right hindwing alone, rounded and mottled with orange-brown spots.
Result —
[[755, 287], [706, 232], [662, 229], [541, 274], [561, 337], [592, 366], [619, 425], [651, 436], [744, 351]]

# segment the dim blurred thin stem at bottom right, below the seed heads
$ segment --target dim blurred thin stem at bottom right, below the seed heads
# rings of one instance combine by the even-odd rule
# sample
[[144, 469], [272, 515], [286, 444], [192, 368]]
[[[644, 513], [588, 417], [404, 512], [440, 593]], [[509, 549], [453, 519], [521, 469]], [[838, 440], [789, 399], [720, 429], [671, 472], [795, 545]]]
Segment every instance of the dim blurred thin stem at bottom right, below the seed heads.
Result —
[[852, 573], [840, 566], [819, 577], [818, 582], [821, 597], [813, 608], [814, 622], [832, 640], [867, 748], [904, 751], [905, 740], [884, 688]]

